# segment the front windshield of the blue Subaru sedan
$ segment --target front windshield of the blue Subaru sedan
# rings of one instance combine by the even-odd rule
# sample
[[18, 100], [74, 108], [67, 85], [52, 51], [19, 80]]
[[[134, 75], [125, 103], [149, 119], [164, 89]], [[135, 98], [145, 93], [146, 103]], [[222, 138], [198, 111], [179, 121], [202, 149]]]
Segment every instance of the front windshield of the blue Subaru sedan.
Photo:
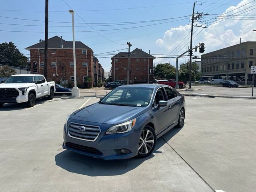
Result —
[[153, 89], [149, 88], [119, 88], [105, 96], [100, 103], [121, 106], [148, 106]]

